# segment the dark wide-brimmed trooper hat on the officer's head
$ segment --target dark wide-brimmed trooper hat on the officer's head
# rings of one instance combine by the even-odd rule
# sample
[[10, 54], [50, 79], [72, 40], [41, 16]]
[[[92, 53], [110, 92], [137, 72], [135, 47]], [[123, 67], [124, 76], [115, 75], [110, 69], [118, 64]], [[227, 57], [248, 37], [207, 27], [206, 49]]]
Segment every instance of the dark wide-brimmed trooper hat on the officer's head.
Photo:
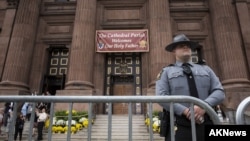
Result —
[[190, 41], [186, 35], [179, 34], [174, 37], [173, 42], [167, 45], [165, 49], [172, 52], [178, 44], [188, 44], [192, 50], [195, 50], [198, 45], [197, 42]]

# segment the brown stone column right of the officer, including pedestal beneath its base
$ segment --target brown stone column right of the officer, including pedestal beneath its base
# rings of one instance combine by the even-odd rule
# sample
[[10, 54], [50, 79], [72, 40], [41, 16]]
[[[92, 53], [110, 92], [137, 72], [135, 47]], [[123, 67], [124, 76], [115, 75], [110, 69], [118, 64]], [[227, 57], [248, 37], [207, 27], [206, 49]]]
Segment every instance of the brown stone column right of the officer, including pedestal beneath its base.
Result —
[[236, 7], [230, 0], [209, 0], [209, 5], [220, 79], [226, 93], [222, 109], [230, 123], [234, 123], [237, 106], [250, 95], [249, 72], [244, 57]]

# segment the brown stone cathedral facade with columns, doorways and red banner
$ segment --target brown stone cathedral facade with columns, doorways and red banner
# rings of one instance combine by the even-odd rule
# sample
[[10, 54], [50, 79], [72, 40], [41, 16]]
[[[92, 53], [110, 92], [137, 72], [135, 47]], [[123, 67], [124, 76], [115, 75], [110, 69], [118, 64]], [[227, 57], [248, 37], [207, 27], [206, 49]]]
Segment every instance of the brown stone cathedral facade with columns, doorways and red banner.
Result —
[[174, 62], [165, 46], [184, 33], [221, 80], [225, 110], [250, 96], [249, 0], [0, 0], [0, 9], [1, 95], [155, 95]]

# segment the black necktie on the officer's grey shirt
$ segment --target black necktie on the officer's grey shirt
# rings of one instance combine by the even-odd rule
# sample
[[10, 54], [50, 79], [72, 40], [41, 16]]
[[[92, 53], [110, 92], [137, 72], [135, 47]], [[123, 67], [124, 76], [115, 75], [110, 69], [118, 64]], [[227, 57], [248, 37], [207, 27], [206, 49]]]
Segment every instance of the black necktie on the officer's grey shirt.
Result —
[[194, 76], [193, 76], [192, 70], [190, 68], [190, 64], [183, 63], [182, 68], [183, 68], [184, 74], [186, 74], [186, 76], [187, 76], [190, 95], [193, 97], [199, 98], [198, 91], [197, 91], [196, 84], [195, 84], [195, 80], [194, 80]]

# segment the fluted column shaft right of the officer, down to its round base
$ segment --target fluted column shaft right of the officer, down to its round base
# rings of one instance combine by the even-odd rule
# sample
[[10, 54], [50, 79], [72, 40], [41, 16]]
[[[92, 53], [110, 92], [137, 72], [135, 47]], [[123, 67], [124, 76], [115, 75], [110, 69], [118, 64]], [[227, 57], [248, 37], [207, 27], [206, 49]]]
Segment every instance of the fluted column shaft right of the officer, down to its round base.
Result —
[[209, 0], [209, 4], [223, 86], [250, 87], [235, 5], [229, 0]]

